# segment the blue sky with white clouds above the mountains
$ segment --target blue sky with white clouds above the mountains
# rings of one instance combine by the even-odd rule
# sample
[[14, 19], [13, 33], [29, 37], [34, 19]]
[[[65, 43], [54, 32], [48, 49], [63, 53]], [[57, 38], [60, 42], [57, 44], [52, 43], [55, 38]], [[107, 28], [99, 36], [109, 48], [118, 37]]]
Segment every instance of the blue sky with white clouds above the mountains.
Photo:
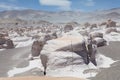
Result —
[[0, 11], [35, 9], [45, 11], [94, 11], [120, 8], [120, 0], [0, 0]]

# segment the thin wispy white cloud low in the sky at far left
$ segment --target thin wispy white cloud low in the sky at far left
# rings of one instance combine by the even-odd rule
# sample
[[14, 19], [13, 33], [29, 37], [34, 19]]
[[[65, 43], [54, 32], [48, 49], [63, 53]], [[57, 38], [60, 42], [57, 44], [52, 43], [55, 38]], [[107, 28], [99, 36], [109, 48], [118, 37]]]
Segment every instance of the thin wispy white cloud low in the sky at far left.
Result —
[[24, 7], [18, 7], [15, 5], [0, 3], [0, 10], [19, 10], [19, 9], [25, 9]]

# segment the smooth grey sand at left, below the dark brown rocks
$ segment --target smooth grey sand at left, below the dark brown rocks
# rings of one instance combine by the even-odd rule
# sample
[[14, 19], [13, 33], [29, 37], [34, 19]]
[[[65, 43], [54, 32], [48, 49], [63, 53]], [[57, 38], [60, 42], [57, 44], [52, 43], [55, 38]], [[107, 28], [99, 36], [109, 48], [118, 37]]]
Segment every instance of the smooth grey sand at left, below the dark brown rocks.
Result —
[[28, 66], [29, 62], [26, 58], [29, 54], [30, 47], [0, 51], [0, 77], [7, 77], [7, 72], [13, 67]]

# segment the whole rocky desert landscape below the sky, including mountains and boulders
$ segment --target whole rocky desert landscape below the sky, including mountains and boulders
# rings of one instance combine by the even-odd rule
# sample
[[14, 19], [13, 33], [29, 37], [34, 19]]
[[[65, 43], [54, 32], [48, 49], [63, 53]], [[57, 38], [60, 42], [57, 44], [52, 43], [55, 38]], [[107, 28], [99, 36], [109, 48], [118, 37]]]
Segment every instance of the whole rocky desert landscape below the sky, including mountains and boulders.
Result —
[[119, 80], [119, 47], [119, 8], [0, 12], [0, 80]]

